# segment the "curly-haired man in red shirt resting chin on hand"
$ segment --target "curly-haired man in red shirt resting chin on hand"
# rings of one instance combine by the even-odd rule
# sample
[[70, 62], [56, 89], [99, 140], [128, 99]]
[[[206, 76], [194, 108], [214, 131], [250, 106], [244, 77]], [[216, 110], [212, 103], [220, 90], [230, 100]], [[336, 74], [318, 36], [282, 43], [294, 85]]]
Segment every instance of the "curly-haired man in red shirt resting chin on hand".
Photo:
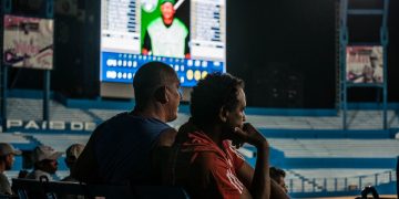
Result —
[[[289, 198], [269, 177], [269, 145], [244, 124], [244, 82], [229, 74], [209, 74], [194, 86], [192, 118], [177, 133], [165, 180], [192, 198]], [[235, 147], [257, 148], [255, 170]]]

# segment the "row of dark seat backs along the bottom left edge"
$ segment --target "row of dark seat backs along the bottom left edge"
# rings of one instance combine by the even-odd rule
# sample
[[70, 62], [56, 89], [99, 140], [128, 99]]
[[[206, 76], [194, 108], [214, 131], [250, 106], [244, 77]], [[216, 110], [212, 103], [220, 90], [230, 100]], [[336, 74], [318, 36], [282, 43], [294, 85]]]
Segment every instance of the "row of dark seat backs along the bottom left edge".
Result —
[[127, 185], [86, 185], [69, 181], [39, 181], [12, 179], [12, 189], [20, 199], [57, 199], [61, 196], [84, 196], [85, 198], [175, 198], [186, 199], [187, 193], [180, 187]]

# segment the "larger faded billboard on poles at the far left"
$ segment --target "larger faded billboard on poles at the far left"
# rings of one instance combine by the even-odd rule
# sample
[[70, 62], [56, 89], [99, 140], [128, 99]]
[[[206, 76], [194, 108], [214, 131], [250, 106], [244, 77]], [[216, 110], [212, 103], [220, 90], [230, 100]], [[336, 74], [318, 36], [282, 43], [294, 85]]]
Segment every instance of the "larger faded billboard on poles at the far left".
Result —
[[51, 19], [4, 15], [3, 62], [13, 67], [53, 67], [54, 23]]

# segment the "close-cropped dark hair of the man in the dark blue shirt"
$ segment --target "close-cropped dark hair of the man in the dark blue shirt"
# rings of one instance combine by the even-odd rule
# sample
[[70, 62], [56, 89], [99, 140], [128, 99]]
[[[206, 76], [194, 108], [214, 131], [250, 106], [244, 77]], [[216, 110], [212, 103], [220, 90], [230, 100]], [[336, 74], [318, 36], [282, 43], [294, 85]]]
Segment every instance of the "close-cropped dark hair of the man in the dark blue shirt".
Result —
[[165, 63], [149, 62], [141, 66], [133, 81], [136, 107], [147, 106], [160, 86], [170, 85], [175, 81], [178, 81], [175, 71]]

